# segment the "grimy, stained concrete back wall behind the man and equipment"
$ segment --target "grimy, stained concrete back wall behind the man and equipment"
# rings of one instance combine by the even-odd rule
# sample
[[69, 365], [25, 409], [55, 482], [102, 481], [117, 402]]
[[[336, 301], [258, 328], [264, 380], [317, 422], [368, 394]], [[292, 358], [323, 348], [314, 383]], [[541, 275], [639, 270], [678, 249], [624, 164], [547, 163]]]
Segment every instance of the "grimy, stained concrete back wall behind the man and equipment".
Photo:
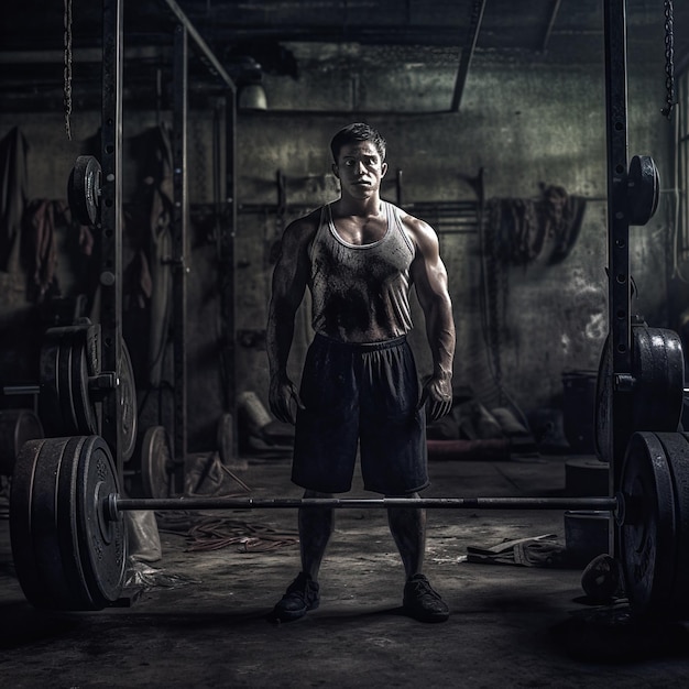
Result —
[[[415, 65], [395, 52], [358, 46], [293, 46], [302, 76], [265, 78], [270, 109], [240, 113], [238, 123], [237, 229], [238, 390], [267, 403], [266, 358], [261, 339], [270, 298], [272, 252], [286, 222], [337, 197], [330, 174], [329, 140], [340, 127], [365, 119], [389, 142], [390, 179], [384, 196], [395, 200], [394, 173], [403, 171], [403, 201], [475, 198], [466, 178], [485, 171], [486, 198], [538, 196], [539, 185], [559, 185], [588, 199], [581, 232], [567, 258], [508, 266], [501, 271], [500, 361], [505, 391], [525, 412], [561, 403], [566, 370], [598, 367], [606, 332], [606, 154], [602, 44], [600, 59], [576, 66], [546, 55], [497, 59], [479, 55], [472, 64], [461, 108], [448, 112], [457, 61], [440, 56], [433, 66]], [[320, 58], [318, 55], [320, 54]], [[630, 50], [630, 154], [653, 155], [664, 187], [671, 169], [671, 125], [659, 114], [664, 103], [663, 51]], [[124, 195], [141, 184], [135, 145], [155, 117], [125, 105]], [[75, 111], [75, 140], [64, 134], [61, 112], [0, 113], [0, 136], [19, 124], [31, 145], [29, 195], [64, 198], [76, 155], [98, 129], [97, 112]], [[189, 174], [192, 203], [212, 200], [212, 112], [192, 109]], [[275, 175], [286, 176], [287, 209], [276, 218]], [[632, 269], [641, 310], [665, 326], [670, 195], [664, 194], [647, 227], [632, 230]], [[263, 205], [261, 210], [258, 206]], [[251, 206], [251, 209], [249, 208]], [[481, 316], [482, 259], [477, 233], [442, 234], [458, 330], [456, 383], [470, 385], [488, 403], [496, 401]], [[547, 254], [547, 252], [546, 252]], [[546, 255], [544, 254], [544, 256]], [[125, 255], [125, 261], [131, 255]], [[61, 266], [67, 260], [61, 258]], [[61, 267], [61, 270], [63, 270]], [[214, 446], [214, 424], [222, 413], [219, 363], [221, 318], [212, 231], [194, 229], [190, 258], [189, 442]], [[66, 269], [64, 269], [66, 271]], [[68, 271], [67, 271], [68, 272]], [[7, 285], [15, 284], [3, 277]], [[72, 289], [68, 275], [63, 284]], [[6, 286], [7, 286], [6, 285]], [[13, 295], [13, 296], [12, 296]], [[25, 308], [21, 288], [3, 289], [2, 314]], [[299, 316], [292, 370], [298, 376], [309, 338], [308, 305]], [[428, 369], [423, 319], [414, 346]], [[135, 338], [135, 332], [130, 337]], [[135, 347], [135, 343], [132, 342]]]

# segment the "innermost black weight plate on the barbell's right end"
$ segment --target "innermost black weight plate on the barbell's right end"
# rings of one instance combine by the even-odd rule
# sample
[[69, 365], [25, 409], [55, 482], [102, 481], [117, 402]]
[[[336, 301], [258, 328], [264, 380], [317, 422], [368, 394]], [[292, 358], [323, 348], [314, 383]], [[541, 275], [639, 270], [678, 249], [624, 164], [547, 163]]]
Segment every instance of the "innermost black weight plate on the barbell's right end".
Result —
[[656, 434], [632, 436], [620, 491], [625, 501], [620, 559], [630, 605], [639, 616], [671, 615], [677, 536], [675, 489], [665, 448]]

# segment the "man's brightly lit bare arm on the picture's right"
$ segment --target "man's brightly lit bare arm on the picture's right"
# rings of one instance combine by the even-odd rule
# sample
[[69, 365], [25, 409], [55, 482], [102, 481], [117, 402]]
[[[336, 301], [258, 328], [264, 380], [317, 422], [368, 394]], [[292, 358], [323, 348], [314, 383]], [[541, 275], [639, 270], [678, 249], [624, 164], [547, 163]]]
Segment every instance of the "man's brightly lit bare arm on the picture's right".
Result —
[[412, 216], [405, 218], [405, 225], [416, 244], [412, 276], [426, 318], [426, 336], [433, 354], [433, 375], [424, 385], [422, 398], [426, 400], [429, 420], [434, 422], [448, 414], [452, 406], [456, 340], [452, 302], [435, 230]]

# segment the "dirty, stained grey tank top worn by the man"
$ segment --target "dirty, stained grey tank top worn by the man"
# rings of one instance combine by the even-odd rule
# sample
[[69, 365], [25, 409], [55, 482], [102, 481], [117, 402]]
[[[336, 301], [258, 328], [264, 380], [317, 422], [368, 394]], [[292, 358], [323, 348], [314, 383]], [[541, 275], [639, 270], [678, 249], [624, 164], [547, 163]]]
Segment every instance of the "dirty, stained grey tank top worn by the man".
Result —
[[409, 266], [414, 245], [400, 209], [382, 201], [387, 230], [371, 244], [350, 244], [337, 232], [330, 205], [324, 206], [311, 243], [310, 292], [314, 330], [346, 342], [376, 342], [412, 327]]

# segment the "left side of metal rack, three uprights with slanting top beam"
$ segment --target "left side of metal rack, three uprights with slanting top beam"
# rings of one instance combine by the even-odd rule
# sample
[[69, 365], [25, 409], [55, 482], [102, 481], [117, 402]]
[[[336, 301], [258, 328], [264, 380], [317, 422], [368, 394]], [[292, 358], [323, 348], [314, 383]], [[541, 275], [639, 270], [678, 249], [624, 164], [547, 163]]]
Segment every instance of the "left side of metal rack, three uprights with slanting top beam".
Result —
[[[225, 397], [236, 400], [234, 372], [234, 232], [237, 88], [192, 22], [174, 0], [160, 0], [177, 21], [173, 54], [173, 347], [174, 347], [174, 458], [182, 464], [187, 450], [187, 276], [189, 201], [187, 195], [188, 43], [200, 52], [209, 73], [219, 79], [225, 94], [225, 156], [222, 157], [223, 206], [220, 222], [219, 270], [231, 276], [222, 281], [220, 295], [223, 324], [221, 349], [227, 371]], [[123, 0], [102, 0], [102, 134], [101, 134], [101, 338], [102, 370], [118, 371], [122, 332], [122, 81]], [[102, 436], [112, 449], [119, 475], [122, 427], [118, 396], [103, 401]], [[236, 434], [233, 434], [236, 435]]]

